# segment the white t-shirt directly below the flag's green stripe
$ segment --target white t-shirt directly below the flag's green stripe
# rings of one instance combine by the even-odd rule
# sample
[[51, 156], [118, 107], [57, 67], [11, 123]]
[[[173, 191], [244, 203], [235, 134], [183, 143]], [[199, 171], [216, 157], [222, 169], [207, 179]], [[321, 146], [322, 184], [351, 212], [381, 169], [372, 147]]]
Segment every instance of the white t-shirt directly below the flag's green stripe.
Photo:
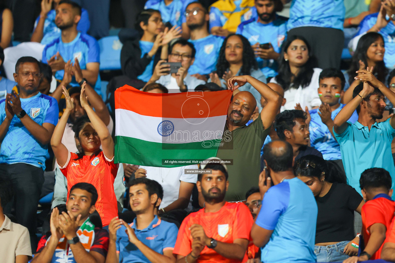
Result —
[[[185, 169], [199, 169], [197, 165], [188, 165], [174, 168], [140, 166], [147, 170], [147, 178], [155, 180], [163, 187], [163, 200], [159, 208], [165, 208], [178, 199], [181, 181], [186, 183], [196, 183], [198, 174], [185, 174]], [[189, 201], [188, 211], [192, 210], [192, 195]]]

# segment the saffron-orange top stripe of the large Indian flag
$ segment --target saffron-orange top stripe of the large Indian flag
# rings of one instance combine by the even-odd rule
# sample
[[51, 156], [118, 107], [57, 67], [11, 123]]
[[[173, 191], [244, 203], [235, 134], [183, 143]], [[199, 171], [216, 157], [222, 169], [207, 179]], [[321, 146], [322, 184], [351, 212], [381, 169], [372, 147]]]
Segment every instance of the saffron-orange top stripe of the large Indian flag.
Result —
[[148, 93], [125, 85], [115, 91], [115, 108], [160, 118], [224, 116], [228, 112], [231, 93], [231, 90]]

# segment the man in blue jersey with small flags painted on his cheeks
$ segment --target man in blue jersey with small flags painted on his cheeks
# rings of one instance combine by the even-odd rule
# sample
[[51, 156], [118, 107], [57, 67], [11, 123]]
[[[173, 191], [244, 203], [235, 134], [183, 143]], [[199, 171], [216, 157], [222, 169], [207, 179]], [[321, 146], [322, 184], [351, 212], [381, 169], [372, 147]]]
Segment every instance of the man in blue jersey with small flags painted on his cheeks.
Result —
[[[334, 160], [343, 167], [340, 145], [333, 134], [333, 119], [344, 107], [339, 102], [344, 95], [344, 75], [339, 69], [328, 68], [321, 72], [319, 80], [318, 95], [322, 105], [319, 109], [310, 110], [310, 144], [322, 153], [325, 160]], [[351, 123], [357, 120], [357, 112], [348, 119]]]

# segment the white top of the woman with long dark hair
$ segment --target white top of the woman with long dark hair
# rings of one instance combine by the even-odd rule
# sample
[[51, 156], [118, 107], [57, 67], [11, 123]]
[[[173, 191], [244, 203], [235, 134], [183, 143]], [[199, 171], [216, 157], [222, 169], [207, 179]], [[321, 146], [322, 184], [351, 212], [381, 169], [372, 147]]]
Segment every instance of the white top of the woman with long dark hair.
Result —
[[[308, 107], [311, 110], [313, 107], [320, 106], [321, 100], [318, 96], [318, 87], [320, 86], [320, 73], [322, 69], [314, 68], [311, 82], [305, 88], [299, 86], [299, 88], [289, 88], [284, 92], [284, 98], [287, 100], [284, 106], [281, 107], [281, 112], [284, 110], [295, 110], [296, 103], [300, 103], [303, 110]], [[272, 78], [270, 82], [277, 83], [276, 78]]]

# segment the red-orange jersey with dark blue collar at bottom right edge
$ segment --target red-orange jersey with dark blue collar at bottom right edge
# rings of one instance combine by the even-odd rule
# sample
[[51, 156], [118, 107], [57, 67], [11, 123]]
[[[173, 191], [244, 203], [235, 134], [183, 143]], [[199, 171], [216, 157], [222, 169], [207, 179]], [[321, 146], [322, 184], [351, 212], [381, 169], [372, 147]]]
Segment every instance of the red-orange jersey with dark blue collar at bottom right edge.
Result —
[[[378, 194], [372, 200], [367, 201], [365, 205], [362, 206], [362, 237], [363, 245], [366, 247], [370, 232], [369, 228], [376, 223], [381, 223], [386, 226], [386, 237], [390, 238], [391, 234], [391, 222], [394, 217], [395, 212], [395, 202], [391, 200], [386, 194]], [[387, 240], [387, 239], [386, 239]], [[389, 241], [391, 242], [391, 241]], [[360, 242], [361, 243], [361, 242]], [[384, 243], [380, 248], [372, 255], [371, 260], [380, 259], [381, 250]], [[361, 248], [362, 249], [362, 248]], [[363, 250], [362, 250], [363, 251]]]

